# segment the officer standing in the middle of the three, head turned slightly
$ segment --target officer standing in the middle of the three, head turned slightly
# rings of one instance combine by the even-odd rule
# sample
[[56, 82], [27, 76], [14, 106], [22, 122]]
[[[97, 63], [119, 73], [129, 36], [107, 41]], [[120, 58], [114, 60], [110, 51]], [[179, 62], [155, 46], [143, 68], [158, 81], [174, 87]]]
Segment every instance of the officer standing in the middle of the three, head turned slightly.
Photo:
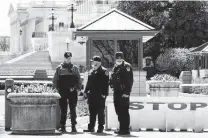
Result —
[[88, 75], [87, 85], [84, 96], [88, 97], [88, 105], [90, 112], [90, 123], [88, 129], [84, 132], [94, 132], [96, 116], [98, 115], [97, 133], [103, 133], [105, 124], [105, 101], [108, 96], [109, 88], [109, 72], [101, 66], [101, 58], [94, 56], [92, 59], [93, 68]]

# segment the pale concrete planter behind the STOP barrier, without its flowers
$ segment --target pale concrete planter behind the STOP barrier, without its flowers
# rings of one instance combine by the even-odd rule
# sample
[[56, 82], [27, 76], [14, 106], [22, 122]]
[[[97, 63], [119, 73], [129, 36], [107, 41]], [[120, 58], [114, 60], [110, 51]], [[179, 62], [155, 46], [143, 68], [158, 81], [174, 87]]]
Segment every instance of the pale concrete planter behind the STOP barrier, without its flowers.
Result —
[[180, 81], [150, 81], [149, 89], [152, 97], [178, 97]]

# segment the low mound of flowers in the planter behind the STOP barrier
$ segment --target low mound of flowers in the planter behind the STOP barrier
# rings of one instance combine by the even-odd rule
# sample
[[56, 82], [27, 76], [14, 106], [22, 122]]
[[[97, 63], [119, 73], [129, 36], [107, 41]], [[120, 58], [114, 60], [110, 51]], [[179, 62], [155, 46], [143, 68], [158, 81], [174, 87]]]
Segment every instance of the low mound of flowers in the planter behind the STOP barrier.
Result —
[[151, 77], [151, 80], [155, 81], [178, 81], [178, 79], [174, 76], [169, 74], [156, 74], [155, 76]]

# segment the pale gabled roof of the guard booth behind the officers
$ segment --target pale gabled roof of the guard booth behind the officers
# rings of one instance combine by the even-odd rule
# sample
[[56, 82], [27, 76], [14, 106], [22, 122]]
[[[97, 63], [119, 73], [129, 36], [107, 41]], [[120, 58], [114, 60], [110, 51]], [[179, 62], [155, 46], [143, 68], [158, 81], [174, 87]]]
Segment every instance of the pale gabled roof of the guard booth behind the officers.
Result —
[[106, 37], [110, 34], [115, 37], [117, 35], [117, 37], [126, 36], [127, 38], [144, 36], [144, 40], [147, 41], [158, 32], [152, 26], [114, 8], [79, 27], [75, 34], [77, 36], [92, 36], [93, 34], [96, 37]]

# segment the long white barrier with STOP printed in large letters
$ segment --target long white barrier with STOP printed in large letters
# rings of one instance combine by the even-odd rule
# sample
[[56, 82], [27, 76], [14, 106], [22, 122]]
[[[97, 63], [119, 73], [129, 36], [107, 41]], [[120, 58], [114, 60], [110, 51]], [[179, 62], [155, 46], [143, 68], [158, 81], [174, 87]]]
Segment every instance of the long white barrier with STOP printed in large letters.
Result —
[[[131, 128], [170, 131], [208, 128], [208, 96], [206, 97], [131, 97]], [[107, 99], [107, 129], [118, 128], [113, 99]]]

